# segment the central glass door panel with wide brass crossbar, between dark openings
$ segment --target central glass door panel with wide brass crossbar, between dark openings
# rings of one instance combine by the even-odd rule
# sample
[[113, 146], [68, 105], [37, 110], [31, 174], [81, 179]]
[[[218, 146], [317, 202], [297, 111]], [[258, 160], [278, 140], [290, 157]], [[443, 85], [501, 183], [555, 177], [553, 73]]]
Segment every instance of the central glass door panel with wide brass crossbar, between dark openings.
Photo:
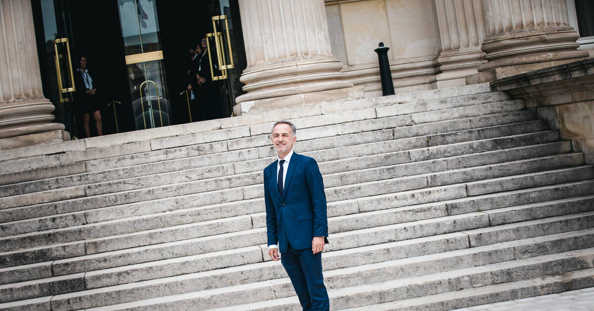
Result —
[[118, 0], [135, 129], [172, 124], [154, 0]]

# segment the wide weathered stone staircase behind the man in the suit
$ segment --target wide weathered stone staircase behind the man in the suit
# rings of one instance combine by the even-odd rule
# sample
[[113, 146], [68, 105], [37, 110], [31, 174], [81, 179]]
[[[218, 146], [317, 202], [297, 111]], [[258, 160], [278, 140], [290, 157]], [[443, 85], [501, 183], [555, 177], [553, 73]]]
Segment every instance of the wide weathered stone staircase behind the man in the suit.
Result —
[[594, 166], [488, 84], [0, 152], [0, 310], [299, 310], [268, 258], [272, 122], [320, 165], [332, 310], [594, 286]]

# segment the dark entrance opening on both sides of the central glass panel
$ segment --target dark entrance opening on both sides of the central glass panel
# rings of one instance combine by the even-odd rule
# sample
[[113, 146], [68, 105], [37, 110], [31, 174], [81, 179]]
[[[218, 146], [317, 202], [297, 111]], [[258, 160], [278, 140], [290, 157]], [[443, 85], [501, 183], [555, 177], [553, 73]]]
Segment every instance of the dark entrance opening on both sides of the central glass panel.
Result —
[[[146, 2], [149, 1], [149, 2]], [[88, 68], [93, 76], [94, 86], [102, 95], [101, 111], [103, 134], [129, 132], [138, 127], [135, 120], [134, 98], [131, 94], [131, 76], [126, 57], [127, 39], [122, 34], [122, 5], [138, 3], [135, 0], [80, 1], [80, 0], [31, 0], [36, 28], [39, 62], [42, 73], [44, 95], [56, 106], [56, 121], [67, 124], [67, 130], [84, 138], [81, 110], [77, 106], [74, 92], [59, 90], [59, 82], [68, 84], [68, 70], [61, 67], [58, 72], [56, 59], [65, 60], [67, 53], [55, 51], [55, 40], [68, 39], [69, 52], [74, 72], [78, 68], [77, 58], [86, 56]], [[241, 36], [239, 6], [236, 0], [144, 0], [144, 9], [149, 4], [157, 10], [159, 21], [157, 36], [162, 50], [165, 81], [164, 88], [169, 95], [165, 98], [170, 106], [170, 123], [181, 124], [200, 120], [195, 109], [205, 105], [213, 107], [208, 118], [229, 117], [236, 96], [241, 95], [241, 70], [245, 69], [245, 51]], [[158, 14], [157, 14], [158, 13]], [[140, 14], [139, 14], [140, 15]], [[189, 47], [195, 47], [206, 34], [213, 33], [213, 19], [217, 15], [229, 16], [229, 30], [235, 53], [235, 68], [228, 70], [228, 78], [211, 85], [213, 100], [203, 100], [200, 107], [192, 106], [187, 90], [188, 68], [191, 65]], [[127, 17], [128, 18], [128, 17]], [[126, 20], [128, 21], [128, 20]], [[220, 29], [219, 29], [220, 31]], [[129, 37], [127, 37], [129, 40]], [[64, 44], [62, 44], [64, 45]], [[129, 45], [129, 44], [128, 44]], [[211, 47], [214, 49], [214, 47]], [[216, 53], [216, 51], [211, 51]], [[141, 53], [141, 52], [135, 52]], [[145, 53], [145, 52], [142, 52]], [[163, 92], [165, 94], [165, 92]], [[162, 96], [165, 96], [163, 95]], [[159, 95], [157, 94], [157, 97]], [[146, 100], [145, 100], [146, 101]], [[191, 109], [188, 106], [192, 106]], [[194, 118], [190, 119], [190, 114]], [[206, 114], [203, 114], [203, 117]], [[69, 120], [72, 124], [68, 124]], [[204, 120], [204, 118], [203, 118]], [[91, 117], [91, 123], [93, 118]], [[156, 126], [163, 126], [163, 122]], [[91, 136], [96, 135], [91, 124]], [[75, 130], [78, 129], [78, 130]]]

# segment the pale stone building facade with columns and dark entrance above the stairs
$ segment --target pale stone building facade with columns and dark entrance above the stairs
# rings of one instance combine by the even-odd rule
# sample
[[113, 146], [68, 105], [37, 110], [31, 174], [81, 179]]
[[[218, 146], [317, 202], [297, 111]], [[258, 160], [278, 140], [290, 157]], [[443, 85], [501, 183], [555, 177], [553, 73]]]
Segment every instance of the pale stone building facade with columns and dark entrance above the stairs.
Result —
[[[72, 84], [81, 55], [105, 94], [106, 132], [127, 132], [380, 96], [374, 52], [380, 42], [390, 48], [397, 93], [576, 62], [593, 53], [592, 6], [585, 0], [1, 0], [0, 150], [83, 137]], [[203, 38], [214, 68], [210, 91], [189, 91], [188, 48]]]

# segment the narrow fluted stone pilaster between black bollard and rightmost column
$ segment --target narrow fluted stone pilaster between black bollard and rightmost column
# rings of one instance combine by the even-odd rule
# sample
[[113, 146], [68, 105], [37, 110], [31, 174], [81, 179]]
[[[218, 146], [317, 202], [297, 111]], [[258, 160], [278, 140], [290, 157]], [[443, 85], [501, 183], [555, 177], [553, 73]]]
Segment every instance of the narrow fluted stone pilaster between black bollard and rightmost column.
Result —
[[465, 85], [465, 76], [477, 73], [485, 63], [481, 50], [486, 37], [481, 0], [435, 0], [440, 31], [441, 73], [437, 87]]

